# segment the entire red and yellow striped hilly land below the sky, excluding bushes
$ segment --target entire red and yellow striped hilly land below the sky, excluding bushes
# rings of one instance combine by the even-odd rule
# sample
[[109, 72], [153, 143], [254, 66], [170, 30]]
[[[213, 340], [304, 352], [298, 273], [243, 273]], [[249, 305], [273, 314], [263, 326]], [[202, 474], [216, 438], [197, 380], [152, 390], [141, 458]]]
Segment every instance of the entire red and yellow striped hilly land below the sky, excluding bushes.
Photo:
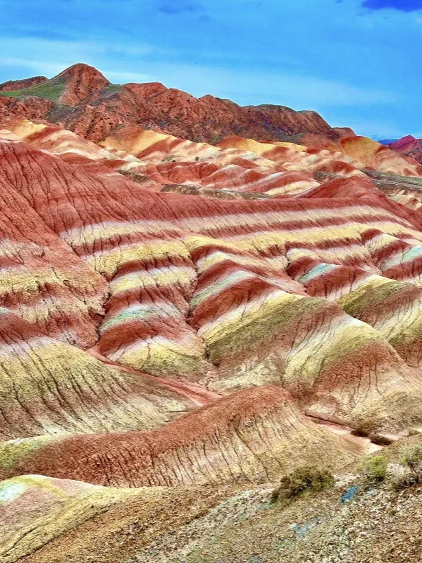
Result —
[[312, 112], [0, 85], [0, 561], [419, 561], [416, 482], [341, 499], [422, 428], [421, 187]]

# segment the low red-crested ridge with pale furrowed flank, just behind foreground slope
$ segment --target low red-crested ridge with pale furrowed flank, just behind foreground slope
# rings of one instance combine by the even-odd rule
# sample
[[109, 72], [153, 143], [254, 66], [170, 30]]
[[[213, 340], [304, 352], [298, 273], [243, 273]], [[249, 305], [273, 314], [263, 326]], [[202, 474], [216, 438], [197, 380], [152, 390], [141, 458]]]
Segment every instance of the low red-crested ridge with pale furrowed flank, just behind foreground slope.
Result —
[[257, 387], [151, 433], [4, 444], [0, 476], [37, 473], [130, 487], [265, 483], [316, 458], [332, 468], [354, 460], [342, 439], [309, 422], [286, 391]]

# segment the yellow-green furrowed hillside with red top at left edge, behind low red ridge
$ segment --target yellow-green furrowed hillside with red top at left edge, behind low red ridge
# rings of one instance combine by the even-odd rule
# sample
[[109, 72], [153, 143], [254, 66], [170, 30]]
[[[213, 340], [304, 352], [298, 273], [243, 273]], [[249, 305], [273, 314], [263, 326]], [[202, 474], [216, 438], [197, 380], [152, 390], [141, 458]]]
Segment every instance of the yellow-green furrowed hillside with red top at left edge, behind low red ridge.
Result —
[[106, 367], [0, 309], [0, 439], [156, 428], [203, 401], [199, 390]]

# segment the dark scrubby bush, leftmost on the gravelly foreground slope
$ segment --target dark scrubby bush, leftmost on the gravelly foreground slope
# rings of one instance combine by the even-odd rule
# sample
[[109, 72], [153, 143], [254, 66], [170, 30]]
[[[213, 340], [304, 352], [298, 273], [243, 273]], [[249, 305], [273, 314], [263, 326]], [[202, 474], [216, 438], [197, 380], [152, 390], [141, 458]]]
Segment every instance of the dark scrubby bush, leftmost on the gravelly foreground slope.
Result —
[[281, 479], [280, 486], [272, 493], [271, 501], [275, 502], [279, 498], [290, 499], [306, 490], [322, 491], [332, 487], [334, 483], [336, 480], [329, 471], [303, 466]]

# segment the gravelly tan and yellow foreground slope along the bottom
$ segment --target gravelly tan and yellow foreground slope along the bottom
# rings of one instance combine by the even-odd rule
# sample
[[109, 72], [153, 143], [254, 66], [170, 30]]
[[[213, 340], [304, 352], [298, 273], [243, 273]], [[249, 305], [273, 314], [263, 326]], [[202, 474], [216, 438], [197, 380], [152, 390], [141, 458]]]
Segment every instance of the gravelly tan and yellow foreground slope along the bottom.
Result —
[[274, 502], [268, 484], [127, 489], [14, 477], [0, 485], [0, 557], [4, 563], [419, 562], [420, 485], [397, 492], [355, 483], [353, 473], [338, 475], [332, 488]]

